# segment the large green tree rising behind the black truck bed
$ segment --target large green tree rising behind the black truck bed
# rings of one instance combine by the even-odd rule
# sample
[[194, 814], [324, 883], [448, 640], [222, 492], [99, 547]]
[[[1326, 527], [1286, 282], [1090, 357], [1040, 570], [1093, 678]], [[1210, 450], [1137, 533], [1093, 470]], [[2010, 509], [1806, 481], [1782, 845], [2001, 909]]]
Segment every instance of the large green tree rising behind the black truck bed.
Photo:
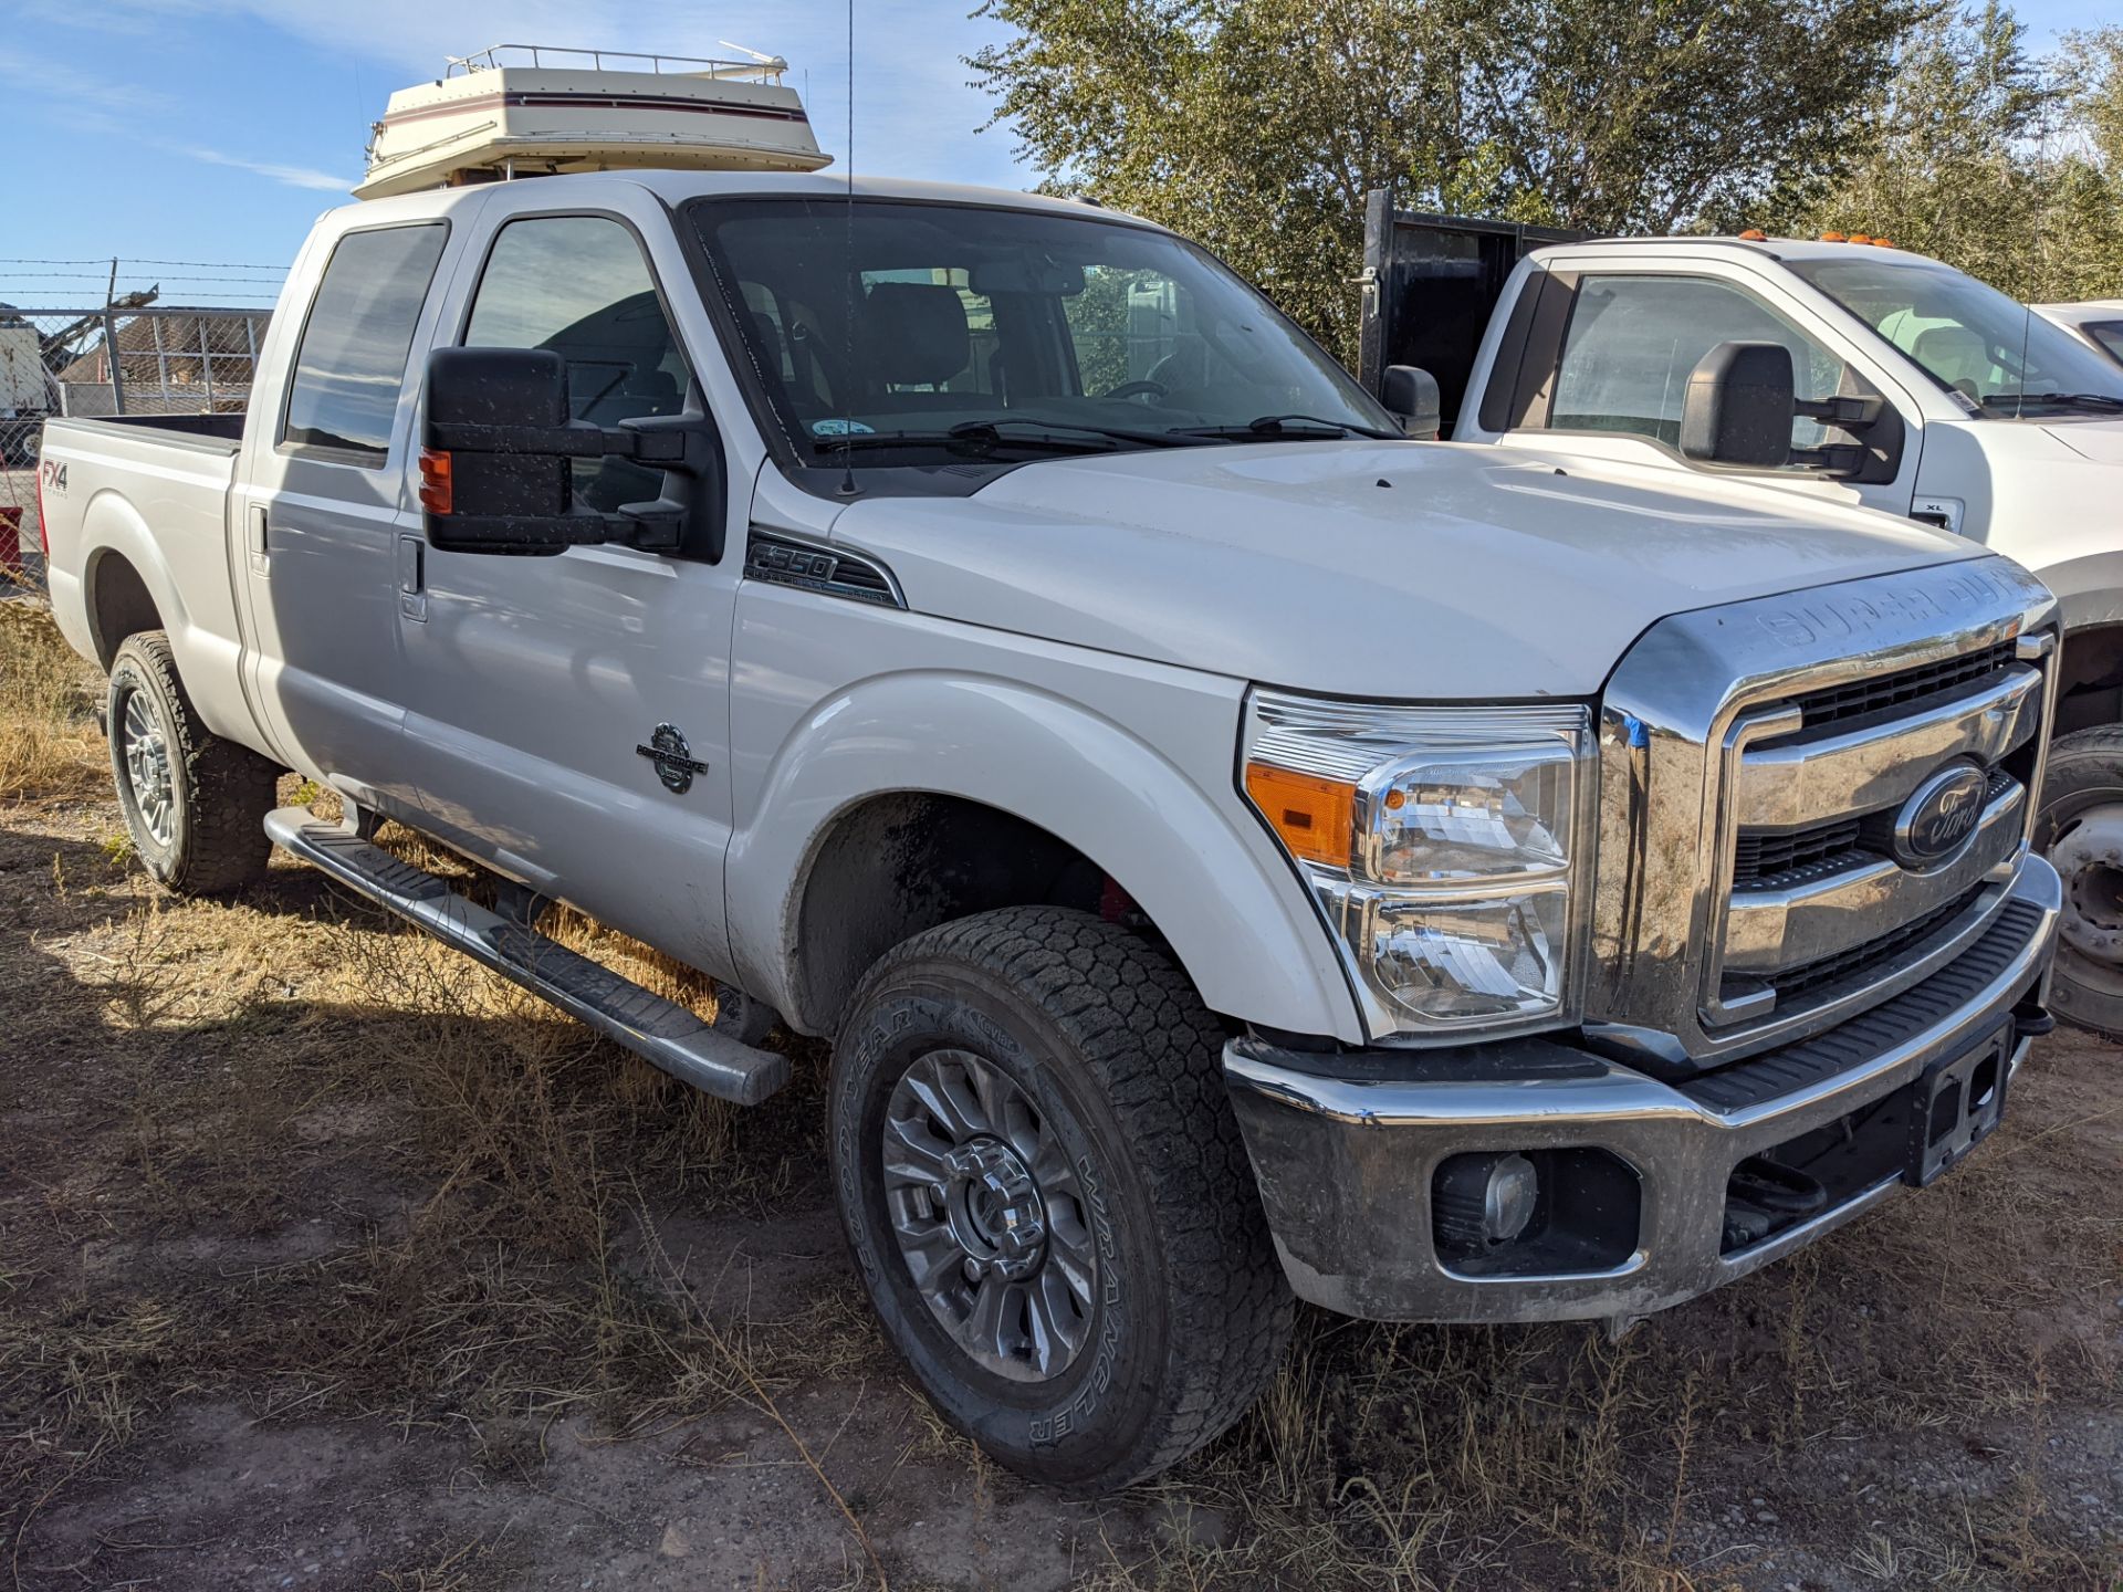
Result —
[[1605, 231], [1839, 151], [1923, 0], [987, 0], [970, 57], [1059, 189], [1199, 238], [1331, 348], [1363, 195]]

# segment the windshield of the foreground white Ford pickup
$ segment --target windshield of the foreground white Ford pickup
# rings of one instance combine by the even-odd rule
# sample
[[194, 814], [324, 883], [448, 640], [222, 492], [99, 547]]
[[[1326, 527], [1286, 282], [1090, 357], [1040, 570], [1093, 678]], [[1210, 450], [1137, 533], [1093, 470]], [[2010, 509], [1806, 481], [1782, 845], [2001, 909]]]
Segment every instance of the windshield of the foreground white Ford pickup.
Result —
[[894, 200], [705, 202], [692, 221], [802, 463], [1401, 435], [1163, 231]]

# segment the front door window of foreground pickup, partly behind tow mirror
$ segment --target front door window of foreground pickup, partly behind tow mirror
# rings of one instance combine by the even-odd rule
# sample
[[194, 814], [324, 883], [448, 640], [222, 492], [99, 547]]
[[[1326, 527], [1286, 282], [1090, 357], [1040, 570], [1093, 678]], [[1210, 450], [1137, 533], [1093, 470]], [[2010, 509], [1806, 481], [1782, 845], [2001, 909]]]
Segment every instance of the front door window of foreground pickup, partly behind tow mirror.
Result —
[[[656, 299], [641, 244], [603, 217], [531, 217], [495, 238], [471, 299], [467, 348], [552, 348], [567, 361], [569, 410], [616, 427], [677, 414], [692, 371]], [[577, 458], [575, 497], [597, 509], [662, 490], [624, 458]]]

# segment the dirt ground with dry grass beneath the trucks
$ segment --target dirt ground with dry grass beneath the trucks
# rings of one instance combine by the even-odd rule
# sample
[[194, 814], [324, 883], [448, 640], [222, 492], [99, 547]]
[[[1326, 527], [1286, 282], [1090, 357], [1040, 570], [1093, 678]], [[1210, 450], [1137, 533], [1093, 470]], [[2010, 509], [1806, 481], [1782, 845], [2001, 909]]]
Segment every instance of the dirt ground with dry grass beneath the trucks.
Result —
[[287, 862], [161, 898], [91, 688], [0, 603], [0, 1592], [2123, 1586], [2106, 1044], [1620, 1344], [1306, 1314], [1233, 1433], [1070, 1503], [896, 1373], [819, 1046], [741, 1112]]

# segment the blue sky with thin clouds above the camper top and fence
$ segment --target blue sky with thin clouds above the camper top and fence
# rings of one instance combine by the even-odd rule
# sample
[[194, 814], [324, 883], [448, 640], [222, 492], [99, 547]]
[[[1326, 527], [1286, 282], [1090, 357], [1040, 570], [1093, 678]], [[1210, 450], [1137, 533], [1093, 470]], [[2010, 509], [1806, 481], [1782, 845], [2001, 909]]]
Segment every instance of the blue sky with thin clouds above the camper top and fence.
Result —
[[[6, 0], [0, 257], [121, 259], [166, 304], [270, 293], [310, 221], [361, 174], [384, 98], [505, 40], [788, 57], [819, 142], [847, 140], [841, 0]], [[1025, 187], [962, 55], [1004, 36], [972, 0], [856, 0], [856, 166]], [[2036, 47], [2117, 0], [2023, 0]], [[130, 261], [231, 261], [263, 272]], [[0, 261], [0, 301], [100, 304], [96, 265]]]

